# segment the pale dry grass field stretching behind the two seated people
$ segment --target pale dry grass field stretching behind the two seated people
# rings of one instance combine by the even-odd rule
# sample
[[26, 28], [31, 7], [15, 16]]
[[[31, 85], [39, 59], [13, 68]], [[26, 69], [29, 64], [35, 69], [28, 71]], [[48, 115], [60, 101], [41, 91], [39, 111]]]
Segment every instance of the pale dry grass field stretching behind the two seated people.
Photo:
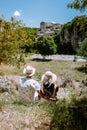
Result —
[[[87, 77], [87, 70], [81, 69], [84, 62], [73, 62], [73, 61], [41, 61], [41, 60], [30, 60], [27, 59], [26, 64], [31, 64], [36, 68], [35, 78], [41, 79], [42, 74], [45, 71], [52, 71], [58, 77], [71, 76], [76, 81], [81, 81]], [[0, 75], [22, 75], [22, 70], [25, 65], [20, 66], [18, 69], [16, 66], [0, 65]], [[86, 68], [87, 69], [87, 68]]]

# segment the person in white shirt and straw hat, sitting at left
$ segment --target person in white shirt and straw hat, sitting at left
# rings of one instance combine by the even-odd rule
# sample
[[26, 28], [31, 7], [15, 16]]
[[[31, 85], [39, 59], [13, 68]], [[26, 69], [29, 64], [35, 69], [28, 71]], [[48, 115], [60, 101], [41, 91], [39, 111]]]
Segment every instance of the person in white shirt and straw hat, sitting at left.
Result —
[[31, 66], [24, 68], [23, 73], [25, 77], [21, 77], [19, 80], [19, 101], [29, 103], [38, 100], [38, 93], [40, 91], [40, 84], [32, 79], [35, 74], [35, 69]]

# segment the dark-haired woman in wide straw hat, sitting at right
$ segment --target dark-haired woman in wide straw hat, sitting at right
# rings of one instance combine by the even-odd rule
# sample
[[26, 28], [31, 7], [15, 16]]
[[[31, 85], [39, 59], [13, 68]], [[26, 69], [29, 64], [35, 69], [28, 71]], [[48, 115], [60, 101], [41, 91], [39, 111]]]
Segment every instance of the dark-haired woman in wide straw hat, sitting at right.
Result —
[[58, 80], [57, 76], [52, 73], [51, 71], [46, 71], [42, 75], [42, 92], [44, 93], [45, 96], [48, 98], [57, 98], [57, 92], [58, 92]]

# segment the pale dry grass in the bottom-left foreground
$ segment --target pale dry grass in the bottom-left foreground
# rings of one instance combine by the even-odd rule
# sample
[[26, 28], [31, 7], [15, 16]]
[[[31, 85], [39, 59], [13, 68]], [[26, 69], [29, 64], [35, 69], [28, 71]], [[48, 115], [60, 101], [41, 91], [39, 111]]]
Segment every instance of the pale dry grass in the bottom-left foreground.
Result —
[[49, 130], [51, 117], [37, 104], [19, 108], [11, 106], [0, 112], [0, 130]]

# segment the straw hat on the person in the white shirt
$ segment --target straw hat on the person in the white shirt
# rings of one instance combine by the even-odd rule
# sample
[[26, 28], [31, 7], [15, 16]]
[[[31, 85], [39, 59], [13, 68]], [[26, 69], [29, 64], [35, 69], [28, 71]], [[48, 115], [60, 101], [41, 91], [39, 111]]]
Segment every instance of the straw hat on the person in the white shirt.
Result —
[[35, 74], [35, 68], [27, 65], [23, 70], [23, 74], [26, 74], [27, 76], [33, 76]]

